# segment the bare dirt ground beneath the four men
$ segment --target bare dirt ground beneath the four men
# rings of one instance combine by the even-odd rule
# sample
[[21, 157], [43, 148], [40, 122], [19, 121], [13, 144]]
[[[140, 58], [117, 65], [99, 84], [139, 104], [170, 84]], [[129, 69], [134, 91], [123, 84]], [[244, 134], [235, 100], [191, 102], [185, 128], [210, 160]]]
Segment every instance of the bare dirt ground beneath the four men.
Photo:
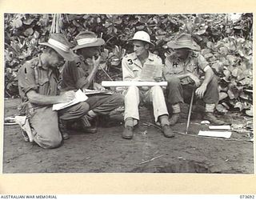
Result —
[[[5, 100], [5, 118], [18, 114], [19, 99]], [[232, 132], [230, 139], [202, 138], [202, 119], [192, 119], [186, 130], [187, 106], [173, 127], [175, 138], [165, 138], [141, 108], [141, 121], [132, 140], [121, 138], [122, 115], [110, 118], [97, 134], [71, 132], [70, 139], [54, 150], [25, 142], [18, 125], [4, 126], [3, 169], [6, 173], [254, 173], [254, 145], [246, 133]], [[241, 114], [222, 116], [227, 122], [244, 123]]]

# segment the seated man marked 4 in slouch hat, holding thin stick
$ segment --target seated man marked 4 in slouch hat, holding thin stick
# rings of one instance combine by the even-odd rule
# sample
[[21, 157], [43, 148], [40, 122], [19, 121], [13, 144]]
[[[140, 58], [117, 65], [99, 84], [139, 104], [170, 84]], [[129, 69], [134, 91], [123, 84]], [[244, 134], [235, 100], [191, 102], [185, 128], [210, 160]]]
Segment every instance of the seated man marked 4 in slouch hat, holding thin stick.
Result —
[[[170, 125], [178, 122], [180, 103], [190, 102], [193, 88], [196, 97], [206, 103], [204, 119], [214, 125], [224, 124], [214, 116], [214, 108], [218, 103], [218, 81], [209, 63], [198, 53], [198, 44], [190, 34], [180, 34], [174, 41], [168, 42], [167, 46], [174, 50], [166, 58], [164, 68], [164, 76], [168, 81], [167, 103], [173, 110]], [[201, 75], [204, 75], [202, 80]]]

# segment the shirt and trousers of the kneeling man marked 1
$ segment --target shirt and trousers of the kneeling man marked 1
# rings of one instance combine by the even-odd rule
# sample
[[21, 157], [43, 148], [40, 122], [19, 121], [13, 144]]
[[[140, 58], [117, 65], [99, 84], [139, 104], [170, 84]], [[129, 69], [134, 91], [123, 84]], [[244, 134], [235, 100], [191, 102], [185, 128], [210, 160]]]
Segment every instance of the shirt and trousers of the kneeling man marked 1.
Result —
[[[44, 68], [41, 58], [33, 58], [25, 62], [18, 70], [18, 90], [22, 98], [22, 114], [30, 120], [34, 130], [34, 142], [42, 148], [58, 147], [62, 142], [62, 134], [58, 129], [58, 112], [52, 110], [52, 105], [30, 103], [26, 93], [35, 90], [38, 94], [58, 95], [58, 69]], [[60, 117], [65, 119], [79, 118], [86, 114], [88, 106], [79, 103], [61, 110]]]

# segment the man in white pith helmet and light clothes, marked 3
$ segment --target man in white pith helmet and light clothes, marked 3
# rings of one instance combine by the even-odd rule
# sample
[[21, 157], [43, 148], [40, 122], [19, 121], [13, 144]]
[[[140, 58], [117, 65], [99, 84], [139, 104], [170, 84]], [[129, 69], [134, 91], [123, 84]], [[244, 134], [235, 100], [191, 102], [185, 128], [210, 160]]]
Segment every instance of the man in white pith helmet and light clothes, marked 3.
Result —
[[[122, 78], [124, 81], [139, 81], [142, 68], [147, 64], [162, 67], [162, 59], [149, 50], [150, 46], [154, 46], [150, 42], [149, 34], [145, 31], [138, 31], [130, 41], [133, 42], [134, 53], [122, 58]], [[174, 137], [169, 126], [168, 111], [162, 88], [160, 86], [129, 86], [125, 94], [125, 129], [122, 132], [122, 138], [133, 138], [134, 126], [138, 124], [139, 120], [138, 105], [141, 100], [153, 102], [155, 122], [160, 122], [162, 132], [167, 138]]]

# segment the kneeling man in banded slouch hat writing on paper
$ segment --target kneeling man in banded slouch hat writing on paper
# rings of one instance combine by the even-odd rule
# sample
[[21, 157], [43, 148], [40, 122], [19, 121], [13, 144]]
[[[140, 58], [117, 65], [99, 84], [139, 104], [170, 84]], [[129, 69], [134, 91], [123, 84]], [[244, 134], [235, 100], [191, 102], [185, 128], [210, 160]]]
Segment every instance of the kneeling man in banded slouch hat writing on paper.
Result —
[[[74, 91], [58, 95], [58, 66], [63, 65], [64, 59], [72, 60], [74, 54], [62, 34], [51, 34], [48, 42], [40, 44], [46, 46], [42, 54], [25, 62], [18, 70], [18, 90], [22, 98], [22, 114], [29, 118], [33, 133], [30, 141], [50, 149], [60, 146], [62, 138], [68, 138], [62, 132], [61, 123], [58, 127], [58, 112], [52, 110], [52, 105], [74, 99]], [[59, 118], [60, 121], [62, 118], [81, 118], [88, 110], [89, 105], [81, 102], [62, 110]]]

